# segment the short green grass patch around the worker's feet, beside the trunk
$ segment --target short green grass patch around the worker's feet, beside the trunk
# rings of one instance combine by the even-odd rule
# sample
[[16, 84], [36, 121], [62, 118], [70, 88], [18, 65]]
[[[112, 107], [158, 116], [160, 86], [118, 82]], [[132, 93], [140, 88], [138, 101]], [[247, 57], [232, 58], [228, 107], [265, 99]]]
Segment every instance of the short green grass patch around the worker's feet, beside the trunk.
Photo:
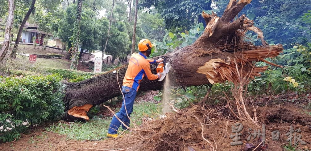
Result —
[[[138, 102], [134, 103], [131, 119], [139, 126], [144, 117], [156, 117], [158, 115], [157, 108], [159, 104], [154, 102]], [[116, 108], [114, 112], [118, 112]], [[67, 139], [73, 140], [90, 140], [106, 137], [109, 124], [112, 117], [93, 117], [87, 122], [70, 122], [70, 123], [54, 123], [47, 130], [66, 135]], [[131, 123], [130, 127], [133, 127]], [[121, 126], [120, 126], [121, 128]], [[119, 130], [122, 130], [119, 129]]]

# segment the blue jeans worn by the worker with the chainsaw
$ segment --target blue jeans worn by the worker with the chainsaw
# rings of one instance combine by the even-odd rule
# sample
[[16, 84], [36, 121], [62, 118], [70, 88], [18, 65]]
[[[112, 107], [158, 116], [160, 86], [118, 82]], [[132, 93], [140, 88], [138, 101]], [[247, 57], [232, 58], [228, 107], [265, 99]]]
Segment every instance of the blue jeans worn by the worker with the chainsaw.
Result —
[[[136, 97], [136, 90], [127, 87], [127, 86], [122, 86], [122, 93], [124, 95], [124, 99], [122, 101], [122, 107], [120, 108], [120, 111], [118, 113], [116, 113], [117, 117], [127, 126], [130, 125], [130, 119], [128, 117], [130, 117], [131, 113], [133, 112], [133, 105], [134, 105], [134, 100]], [[124, 104], [125, 102], [125, 104]], [[126, 110], [128, 111], [128, 116], [126, 114]], [[108, 133], [109, 134], [117, 134], [118, 133], [118, 129], [121, 125], [121, 122], [114, 116], [112, 117], [110, 126], [108, 128]], [[126, 127], [122, 124], [122, 128], [126, 129]]]

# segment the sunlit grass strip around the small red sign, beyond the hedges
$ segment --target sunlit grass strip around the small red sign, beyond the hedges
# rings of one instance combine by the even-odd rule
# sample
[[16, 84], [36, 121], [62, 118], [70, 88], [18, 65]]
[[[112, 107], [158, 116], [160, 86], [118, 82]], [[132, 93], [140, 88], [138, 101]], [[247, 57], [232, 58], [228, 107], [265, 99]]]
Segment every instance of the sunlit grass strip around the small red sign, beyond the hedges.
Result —
[[[21, 63], [30, 64], [29, 63], [29, 57], [27, 56], [19, 56], [18, 58], [21, 59]], [[42, 68], [57, 68], [57, 69], [69, 69], [70, 68], [69, 61], [66, 61], [65, 59], [45, 59], [45, 58], [37, 58], [37, 61], [32, 66], [36, 67], [42, 67]]]

